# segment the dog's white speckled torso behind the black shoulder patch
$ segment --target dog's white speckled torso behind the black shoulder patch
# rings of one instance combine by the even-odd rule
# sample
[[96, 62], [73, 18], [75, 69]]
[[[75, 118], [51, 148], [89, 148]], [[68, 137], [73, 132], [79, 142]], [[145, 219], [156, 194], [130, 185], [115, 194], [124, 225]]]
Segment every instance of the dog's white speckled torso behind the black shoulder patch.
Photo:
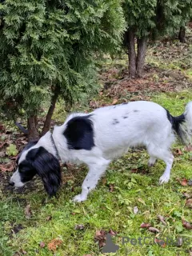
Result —
[[[164, 143], [171, 133], [166, 110], [154, 102], [130, 102], [92, 112], [95, 142], [104, 152]], [[174, 134], [171, 139], [174, 139]]]

